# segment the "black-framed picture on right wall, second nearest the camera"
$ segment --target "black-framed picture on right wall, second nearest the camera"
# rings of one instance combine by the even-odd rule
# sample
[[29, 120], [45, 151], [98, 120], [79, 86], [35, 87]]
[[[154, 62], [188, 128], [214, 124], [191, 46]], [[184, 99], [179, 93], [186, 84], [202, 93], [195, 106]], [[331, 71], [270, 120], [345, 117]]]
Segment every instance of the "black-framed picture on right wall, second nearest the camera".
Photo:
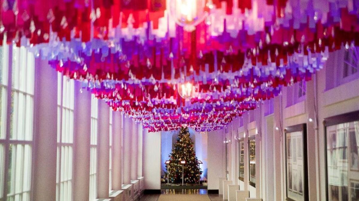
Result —
[[308, 200], [307, 126], [285, 128], [286, 200]]

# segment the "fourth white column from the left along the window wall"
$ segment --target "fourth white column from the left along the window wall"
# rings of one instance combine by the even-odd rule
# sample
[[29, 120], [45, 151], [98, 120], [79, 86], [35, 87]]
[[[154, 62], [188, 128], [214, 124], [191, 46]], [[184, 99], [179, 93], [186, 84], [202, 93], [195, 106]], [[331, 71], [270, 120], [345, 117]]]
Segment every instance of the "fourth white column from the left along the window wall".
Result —
[[122, 113], [112, 112], [112, 188], [122, 189]]

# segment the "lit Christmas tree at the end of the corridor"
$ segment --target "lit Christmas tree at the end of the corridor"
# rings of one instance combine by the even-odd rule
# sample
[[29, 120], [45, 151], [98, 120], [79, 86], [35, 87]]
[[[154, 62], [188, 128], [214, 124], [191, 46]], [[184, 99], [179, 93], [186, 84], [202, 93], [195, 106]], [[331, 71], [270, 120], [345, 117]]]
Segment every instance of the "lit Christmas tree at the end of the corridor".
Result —
[[[184, 183], [198, 183], [200, 171], [196, 152], [193, 146], [193, 141], [190, 138], [188, 128], [182, 127], [177, 137], [177, 142], [169, 155], [169, 182], [182, 183], [182, 164], [181, 161], [186, 161], [183, 166]], [[166, 164], [166, 168], [167, 168]]]

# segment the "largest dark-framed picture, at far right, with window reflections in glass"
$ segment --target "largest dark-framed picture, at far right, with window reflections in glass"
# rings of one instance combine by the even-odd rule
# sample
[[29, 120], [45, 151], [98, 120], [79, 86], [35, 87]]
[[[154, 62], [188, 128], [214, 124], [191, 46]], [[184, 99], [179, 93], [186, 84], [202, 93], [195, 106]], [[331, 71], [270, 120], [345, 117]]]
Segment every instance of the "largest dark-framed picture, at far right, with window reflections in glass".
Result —
[[323, 123], [327, 201], [359, 201], [359, 111]]

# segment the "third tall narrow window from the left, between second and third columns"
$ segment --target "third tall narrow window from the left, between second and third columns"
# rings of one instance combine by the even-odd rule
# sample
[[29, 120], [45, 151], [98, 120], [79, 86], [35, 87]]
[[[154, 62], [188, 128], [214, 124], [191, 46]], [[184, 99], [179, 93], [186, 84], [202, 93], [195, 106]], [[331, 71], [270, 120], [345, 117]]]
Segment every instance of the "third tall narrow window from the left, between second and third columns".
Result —
[[97, 197], [97, 122], [98, 100], [92, 94], [91, 98], [91, 139], [90, 139], [90, 193], [89, 200]]

